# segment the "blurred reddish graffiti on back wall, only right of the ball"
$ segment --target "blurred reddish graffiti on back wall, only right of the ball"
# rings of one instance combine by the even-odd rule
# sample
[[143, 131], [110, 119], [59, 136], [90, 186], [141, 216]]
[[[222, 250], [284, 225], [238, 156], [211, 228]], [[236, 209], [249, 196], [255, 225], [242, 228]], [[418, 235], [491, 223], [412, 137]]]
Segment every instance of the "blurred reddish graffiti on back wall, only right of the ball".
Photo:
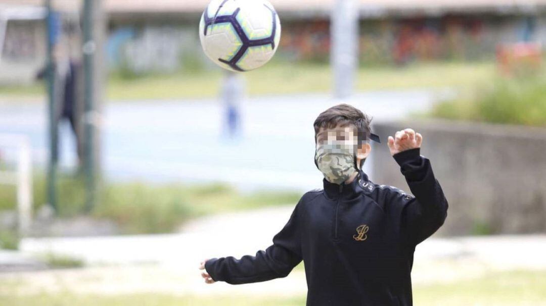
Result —
[[[405, 64], [438, 59], [492, 58], [499, 44], [521, 40], [545, 41], [544, 20], [532, 24], [530, 27], [527, 17], [450, 15], [362, 21], [360, 62]], [[328, 61], [328, 21], [297, 22], [284, 29], [279, 53], [304, 61]]]

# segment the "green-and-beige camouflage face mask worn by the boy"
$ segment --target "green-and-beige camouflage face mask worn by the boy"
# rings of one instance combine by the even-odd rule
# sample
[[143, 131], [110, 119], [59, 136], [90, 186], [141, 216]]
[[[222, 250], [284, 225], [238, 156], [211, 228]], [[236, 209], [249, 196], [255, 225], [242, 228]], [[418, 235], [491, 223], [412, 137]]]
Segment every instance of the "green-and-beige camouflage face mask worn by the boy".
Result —
[[327, 140], [317, 143], [314, 159], [328, 182], [341, 184], [357, 172], [354, 150], [353, 141]]

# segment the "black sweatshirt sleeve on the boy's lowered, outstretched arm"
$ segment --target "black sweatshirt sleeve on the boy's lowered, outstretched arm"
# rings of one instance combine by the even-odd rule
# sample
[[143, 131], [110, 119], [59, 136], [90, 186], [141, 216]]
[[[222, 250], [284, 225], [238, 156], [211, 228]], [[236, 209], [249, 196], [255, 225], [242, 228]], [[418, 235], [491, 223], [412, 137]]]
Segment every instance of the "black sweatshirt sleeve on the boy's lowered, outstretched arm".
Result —
[[213, 258], [205, 262], [205, 269], [215, 281], [246, 284], [286, 277], [301, 262], [300, 202], [288, 223], [273, 237], [273, 244], [259, 250], [256, 256], [245, 255]]

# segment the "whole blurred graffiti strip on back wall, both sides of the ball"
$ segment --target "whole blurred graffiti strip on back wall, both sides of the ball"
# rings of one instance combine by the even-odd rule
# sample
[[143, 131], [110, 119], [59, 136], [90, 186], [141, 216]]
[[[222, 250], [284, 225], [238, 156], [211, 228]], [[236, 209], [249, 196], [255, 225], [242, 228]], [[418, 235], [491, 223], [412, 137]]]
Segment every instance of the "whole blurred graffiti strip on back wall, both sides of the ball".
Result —
[[[546, 19], [520, 16], [446, 15], [360, 22], [360, 63], [477, 60], [495, 57], [498, 45], [521, 39], [546, 41]], [[542, 34], [541, 34], [542, 33]], [[209, 63], [197, 29], [187, 26], [119, 27], [110, 34], [111, 67], [136, 73], [174, 71]], [[277, 59], [327, 63], [330, 23], [326, 19], [286, 21]]]

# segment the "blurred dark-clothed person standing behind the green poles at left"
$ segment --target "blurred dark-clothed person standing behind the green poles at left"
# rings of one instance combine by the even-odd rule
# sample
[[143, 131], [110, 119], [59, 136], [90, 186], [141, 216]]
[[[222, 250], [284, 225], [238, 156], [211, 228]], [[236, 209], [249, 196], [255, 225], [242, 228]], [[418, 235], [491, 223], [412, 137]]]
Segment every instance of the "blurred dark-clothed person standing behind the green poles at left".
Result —
[[[54, 49], [53, 61], [55, 67], [55, 125], [57, 127], [62, 119], [67, 119], [70, 128], [76, 139], [76, 154], [78, 155], [78, 164], [81, 164], [82, 150], [80, 137], [80, 105], [81, 105], [81, 71], [82, 66], [79, 62], [70, 59], [63, 53], [60, 46]], [[48, 71], [47, 66], [38, 72], [38, 79], [45, 79]], [[58, 139], [58, 137], [57, 137]], [[60, 145], [57, 141], [57, 147]], [[54, 159], [58, 160], [59, 150], [55, 150]]]

